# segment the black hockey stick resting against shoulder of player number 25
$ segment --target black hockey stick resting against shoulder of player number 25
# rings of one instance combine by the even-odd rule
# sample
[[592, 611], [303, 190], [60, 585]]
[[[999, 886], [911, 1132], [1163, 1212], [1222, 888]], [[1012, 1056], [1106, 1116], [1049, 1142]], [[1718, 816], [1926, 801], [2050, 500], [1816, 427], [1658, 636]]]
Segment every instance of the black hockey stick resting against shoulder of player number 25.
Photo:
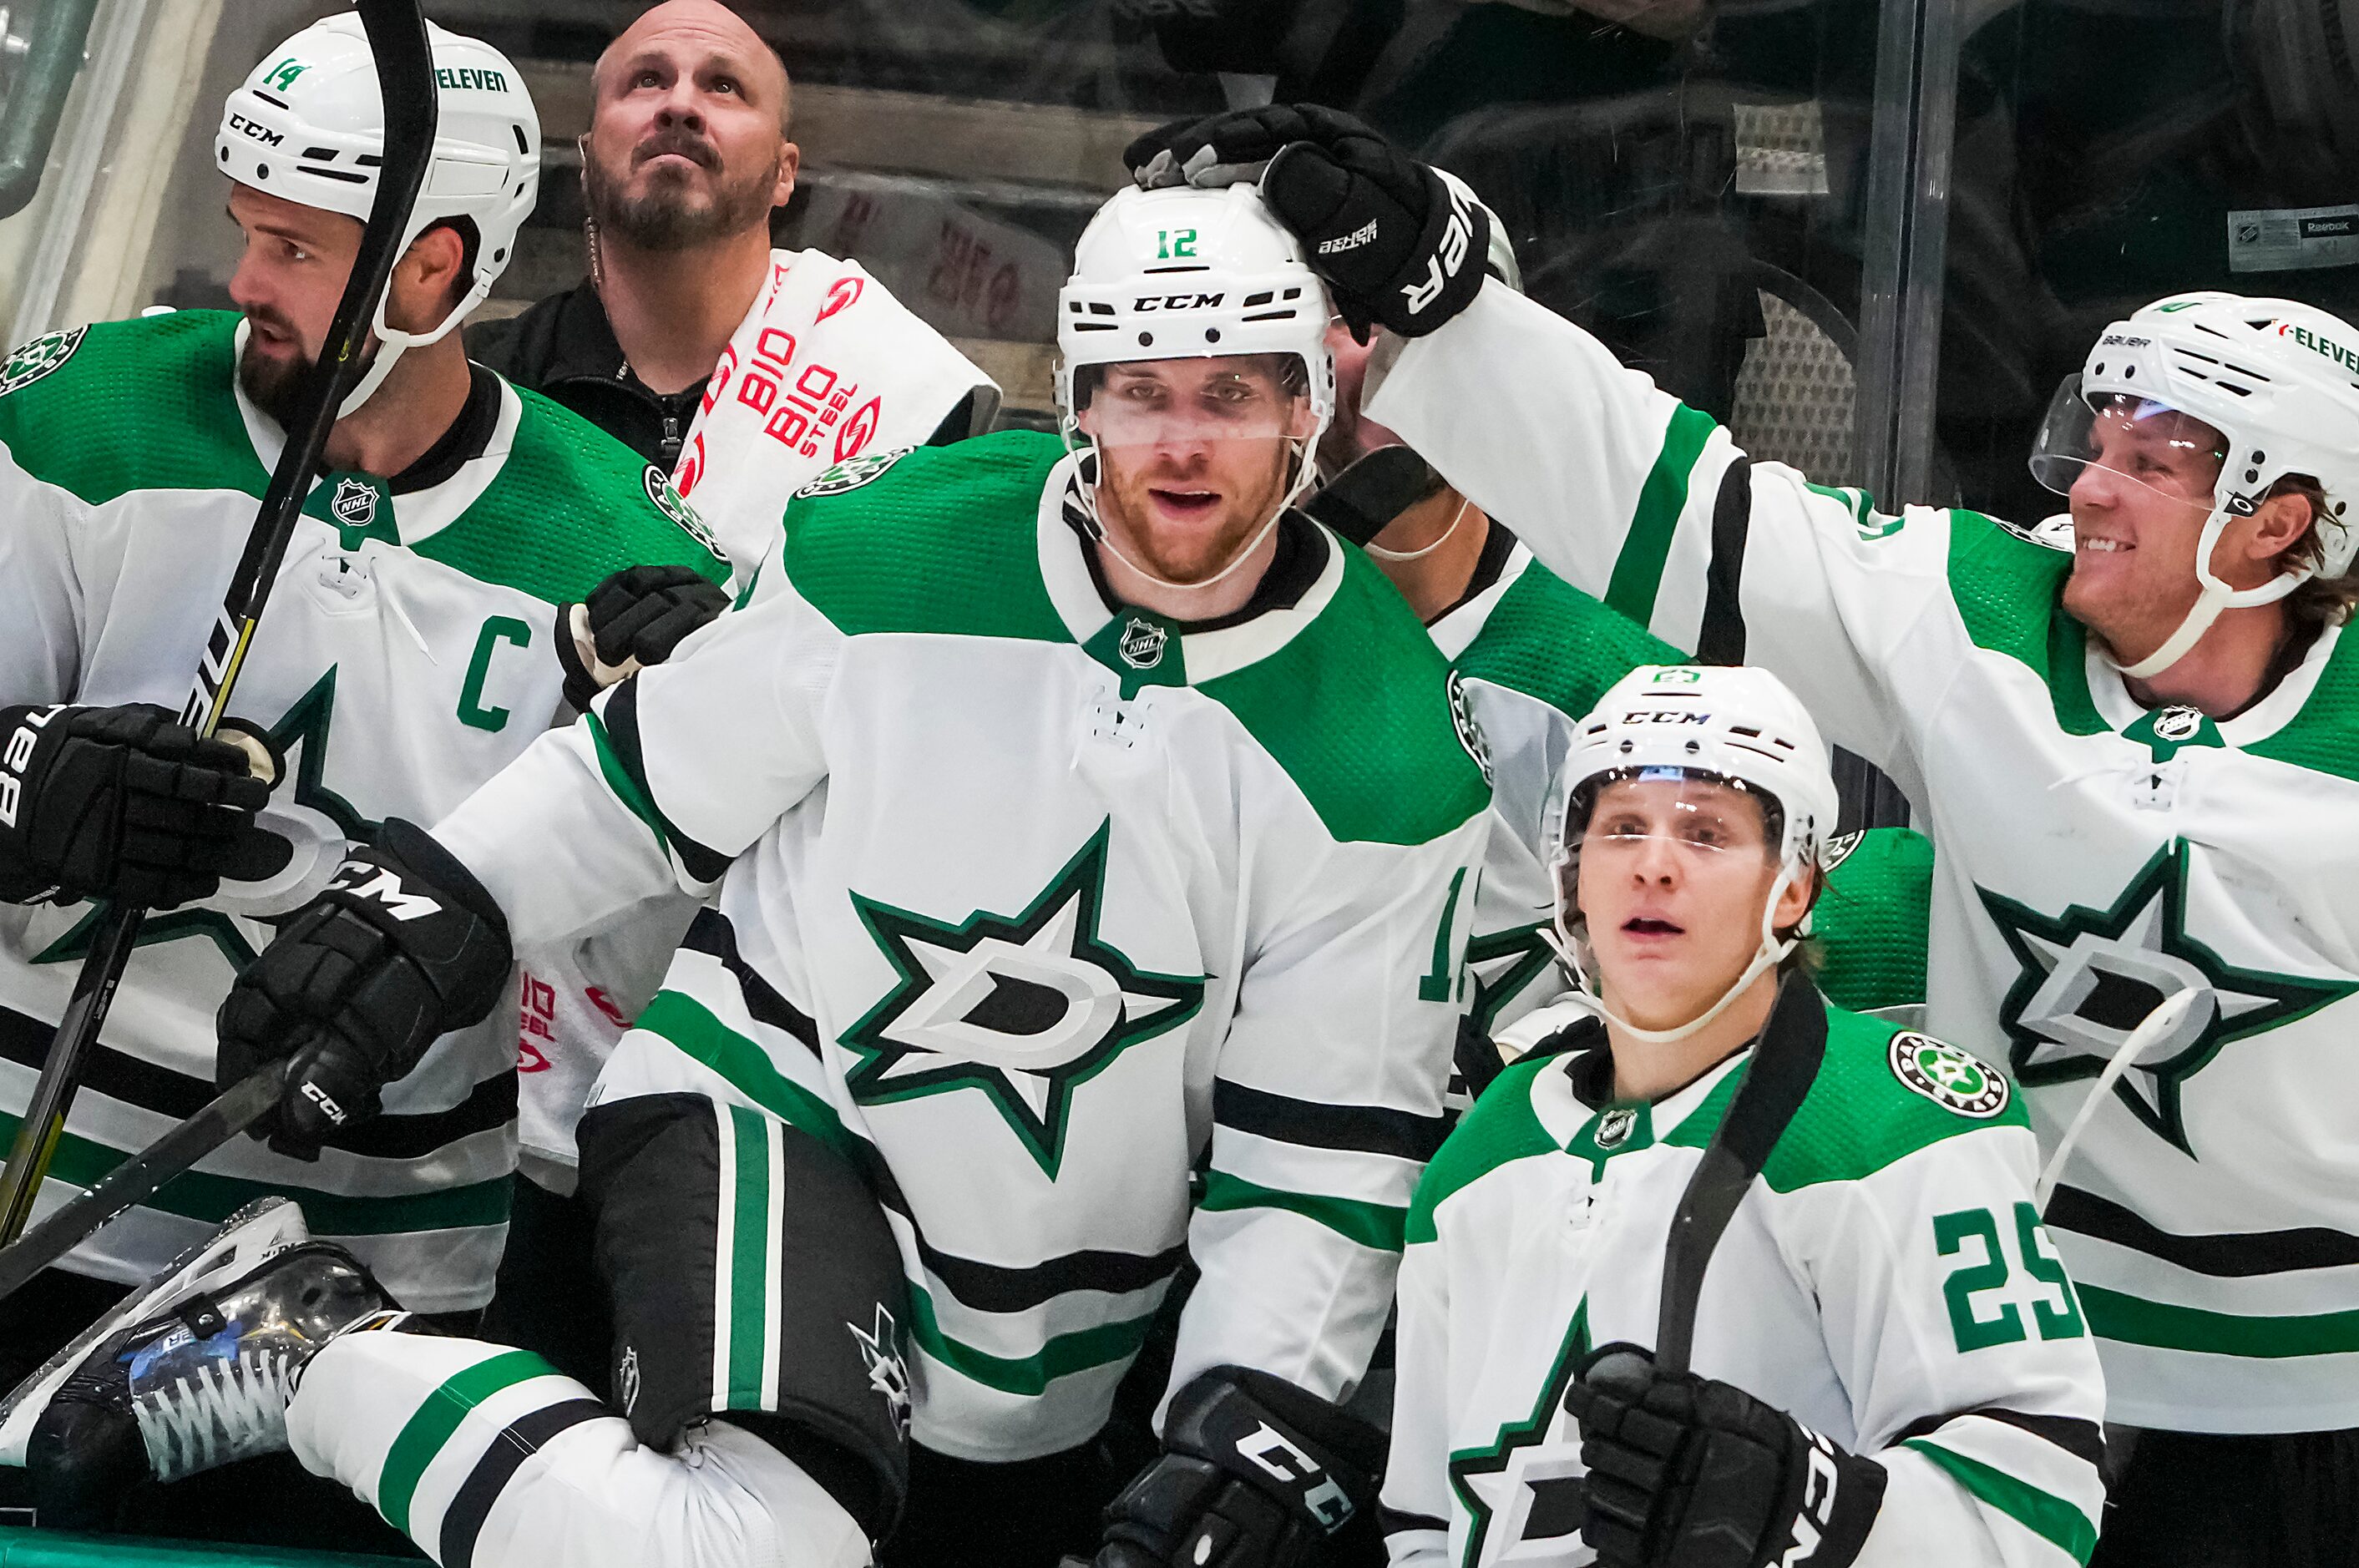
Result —
[[1703, 1271], [1713, 1264], [1720, 1233], [1729, 1228], [1753, 1177], [1762, 1174], [1769, 1151], [1786, 1137], [1786, 1125], [1809, 1096], [1826, 1059], [1826, 1002], [1807, 976], [1779, 981], [1776, 1004], [1762, 1023], [1753, 1066], [1736, 1085], [1729, 1113], [1713, 1129], [1696, 1174], [1680, 1193], [1670, 1217], [1670, 1243], [1663, 1247], [1663, 1304], [1654, 1330], [1654, 1365], [1663, 1372], [1687, 1372], [1696, 1349], [1696, 1304], [1703, 1299]]

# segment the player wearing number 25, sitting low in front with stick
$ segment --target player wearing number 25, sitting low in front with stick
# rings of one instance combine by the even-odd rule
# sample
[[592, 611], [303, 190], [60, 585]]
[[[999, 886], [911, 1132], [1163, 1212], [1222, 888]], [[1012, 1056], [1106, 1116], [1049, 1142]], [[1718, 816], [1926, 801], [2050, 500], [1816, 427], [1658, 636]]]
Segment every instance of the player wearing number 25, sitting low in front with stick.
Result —
[[[1557, 931], [1599, 1002], [1418, 1184], [1394, 1566], [2085, 1561], [2104, 1394], [2022, 1106], [1795, 953], [1835, 813], [1809, 714], [1762, 670], [1642, 667], [1564, 783]], [[1663, 1370], [1682, 1198], [1779, 1087]]]

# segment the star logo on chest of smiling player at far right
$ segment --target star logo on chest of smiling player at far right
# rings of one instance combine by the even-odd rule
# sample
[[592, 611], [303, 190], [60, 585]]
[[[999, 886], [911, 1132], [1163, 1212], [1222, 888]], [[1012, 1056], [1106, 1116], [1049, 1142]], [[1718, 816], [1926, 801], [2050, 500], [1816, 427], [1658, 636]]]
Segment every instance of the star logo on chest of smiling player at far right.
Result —
[[2239, 969], [2187, 934], [2187, 839], [2130, 877], [2109, 910], [2078, 903], [2048, 917], [1977, 887], [2022, 974], [1998, 1009], [2008, 1063], [2024, 1085], [2095, 1078], [2163, 997], [2194, 988], [2180, 1028], [2140, 1056], [2114, 1094], [2194, 1158], [2180, 1108], [2187, 1080], [2222, 1047], [2305, 1019], [2359, 986]]

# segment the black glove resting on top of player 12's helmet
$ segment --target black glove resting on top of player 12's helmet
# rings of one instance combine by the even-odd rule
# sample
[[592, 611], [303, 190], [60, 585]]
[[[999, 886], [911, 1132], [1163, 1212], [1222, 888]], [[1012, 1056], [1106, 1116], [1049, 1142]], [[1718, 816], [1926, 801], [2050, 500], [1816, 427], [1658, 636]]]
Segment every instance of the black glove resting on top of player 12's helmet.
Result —
[[1491, 215], [1335, 108], [1272, 104], [1165, 125], [1123, 158], [1149, 189], [1260, 179], [1361, 342], [1368, 323], [1422, 337], [1481, 290]]

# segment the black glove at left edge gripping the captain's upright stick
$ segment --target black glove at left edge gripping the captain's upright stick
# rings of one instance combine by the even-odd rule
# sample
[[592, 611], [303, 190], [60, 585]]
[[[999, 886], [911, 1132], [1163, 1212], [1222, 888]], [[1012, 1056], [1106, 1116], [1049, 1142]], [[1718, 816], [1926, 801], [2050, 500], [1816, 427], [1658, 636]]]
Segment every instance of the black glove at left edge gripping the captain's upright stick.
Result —
[[0, 901], [165, 910], [274, 877], [293, 849], [255, 825], [269, 797], [245, 752], [153, 703], [0, 707]]

